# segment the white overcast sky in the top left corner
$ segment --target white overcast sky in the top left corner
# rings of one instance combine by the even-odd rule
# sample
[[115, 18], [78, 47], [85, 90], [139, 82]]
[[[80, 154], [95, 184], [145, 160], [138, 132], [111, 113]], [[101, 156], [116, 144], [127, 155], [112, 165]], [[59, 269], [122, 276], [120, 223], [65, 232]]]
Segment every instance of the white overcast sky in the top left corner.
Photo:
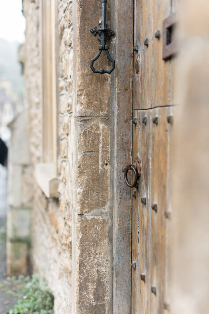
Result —
[[0, 0], [0, 38], [22, 43], [25, 41], [24, 31], [22, 0]]

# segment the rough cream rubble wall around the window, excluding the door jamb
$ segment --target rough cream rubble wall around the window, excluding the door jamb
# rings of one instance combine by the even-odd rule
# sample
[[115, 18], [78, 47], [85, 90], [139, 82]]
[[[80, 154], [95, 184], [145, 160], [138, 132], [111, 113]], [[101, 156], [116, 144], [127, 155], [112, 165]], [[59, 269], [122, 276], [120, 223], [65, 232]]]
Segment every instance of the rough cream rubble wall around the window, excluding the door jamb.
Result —
[[[39, 0], [23, 1], [26, 18], [24, 62], [25, 106], [30, 115], [30, 153], [34, 166], [42, 158], [42, 111], [40, 105]], [[69, 129], [72, 116], [72, 2], [58, 1], [59, 104], [58, 177], [59, 199], [47, 199], [33, 178], [33, 267], [48, 280], [55, 296], [55, 314], [71, 313], [71, 174]]]

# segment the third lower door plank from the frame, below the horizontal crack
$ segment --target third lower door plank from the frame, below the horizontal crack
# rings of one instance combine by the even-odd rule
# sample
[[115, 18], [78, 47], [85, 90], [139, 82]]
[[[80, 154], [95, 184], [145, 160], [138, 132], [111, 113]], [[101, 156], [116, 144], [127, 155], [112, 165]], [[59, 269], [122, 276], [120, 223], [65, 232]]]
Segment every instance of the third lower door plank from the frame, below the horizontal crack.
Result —
[[[168, 148], [168, 108], [152, 110], [151, 150], [151, 293], [150, 313], [164, 313], [166, 284], [166, 217], [167, 209], [167, 148]], [[156, 120], [155, 120], [156, 121]], [[152, 288], [151, 288], [152, 289]]]

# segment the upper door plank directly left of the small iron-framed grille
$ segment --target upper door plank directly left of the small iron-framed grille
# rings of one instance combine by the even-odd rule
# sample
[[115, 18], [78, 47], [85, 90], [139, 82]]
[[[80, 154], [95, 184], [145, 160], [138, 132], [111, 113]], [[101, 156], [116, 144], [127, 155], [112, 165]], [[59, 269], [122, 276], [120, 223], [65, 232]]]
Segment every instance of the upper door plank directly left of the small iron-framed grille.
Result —
[[[163, 20], [170, 14], [170, 0], [154, 0], [153, 28], [153, 95], [152, 106], [169, 104], [170, 61], [162, 59]], [[160, 37], [155, 32], [160, 31]], [[158, 34], [157, 34], [158, 35]]]

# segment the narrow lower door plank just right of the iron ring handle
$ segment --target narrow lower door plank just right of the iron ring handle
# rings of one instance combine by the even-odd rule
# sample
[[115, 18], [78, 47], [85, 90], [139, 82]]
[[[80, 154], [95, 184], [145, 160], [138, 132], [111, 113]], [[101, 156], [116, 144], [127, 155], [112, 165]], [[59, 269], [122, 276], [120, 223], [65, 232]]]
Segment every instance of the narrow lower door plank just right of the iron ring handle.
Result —
[[[146, 118], [146, 123], [145, 122]], [[138, 249], [138, 313], [149, 313], [150, 300], [150, 141], [151, 111], [140, 111], [139, 157], [142, 171], [139, 179], [139, 249]], [[145, 198], [142, 200], [142, 198]], [[144, 204], [145, 203], [145, 204]], [[140, 276], [145, 274], [145, 281]]]

